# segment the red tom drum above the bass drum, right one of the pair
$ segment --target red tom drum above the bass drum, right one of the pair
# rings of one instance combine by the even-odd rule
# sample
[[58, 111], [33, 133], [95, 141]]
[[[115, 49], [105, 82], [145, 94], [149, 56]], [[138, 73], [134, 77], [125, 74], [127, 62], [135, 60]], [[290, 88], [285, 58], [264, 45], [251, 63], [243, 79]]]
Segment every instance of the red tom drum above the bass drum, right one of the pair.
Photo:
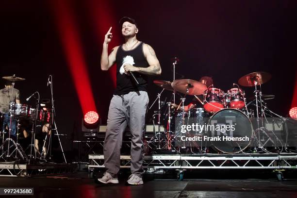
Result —
[[226, 102], [229, 103], [229, 108], [242, 109], [245, 107], [244, 100], [245, 92], [242, 89], [232, 88], [227, 92]]

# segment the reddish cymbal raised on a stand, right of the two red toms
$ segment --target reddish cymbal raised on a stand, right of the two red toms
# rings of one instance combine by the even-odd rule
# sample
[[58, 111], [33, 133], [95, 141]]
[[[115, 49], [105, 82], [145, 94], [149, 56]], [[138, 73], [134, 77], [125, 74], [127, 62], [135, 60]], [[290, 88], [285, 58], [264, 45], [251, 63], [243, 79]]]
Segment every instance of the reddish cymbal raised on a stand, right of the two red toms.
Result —
[[241, 77], [238, 80], [238, 83], [242, 86], [255, 86], [254, 82], [257, 82], [257, 85], [264, 84], [271, 79], [271, 74], [267, 72], [253, 72]]

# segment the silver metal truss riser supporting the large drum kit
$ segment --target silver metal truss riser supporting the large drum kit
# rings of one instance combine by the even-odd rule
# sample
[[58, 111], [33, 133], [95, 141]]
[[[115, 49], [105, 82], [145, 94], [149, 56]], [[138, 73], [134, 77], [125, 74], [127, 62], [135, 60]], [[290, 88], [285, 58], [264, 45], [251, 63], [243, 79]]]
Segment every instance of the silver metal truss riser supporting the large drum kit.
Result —
[[[257, 156], [256, 156], [257, 155]], [[144, 157], [144, 168], [155, 169], [297, 169], [297, 155], [259, 156], [248, 154], [242, 157], [218, 154], [212, 156], [153, 155]], [[104, 156], [90, 154], [89, 170], [104, 168]], [[130, 168], [131, 156], [121, 155], [120, 168]]]

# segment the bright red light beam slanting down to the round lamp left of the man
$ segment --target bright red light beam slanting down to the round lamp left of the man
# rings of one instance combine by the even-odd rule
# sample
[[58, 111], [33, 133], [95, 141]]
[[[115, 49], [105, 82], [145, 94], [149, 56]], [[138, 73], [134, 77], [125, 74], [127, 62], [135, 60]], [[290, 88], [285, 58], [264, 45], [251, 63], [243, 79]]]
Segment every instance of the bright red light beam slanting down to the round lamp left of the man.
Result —
[[73, 83], [82, 107], [82, 113], [96, 111], [87, 64], [82, 50], [82, 41], [75, 20], [75, 12], [71, 0], [49, 1], [59, 31], [61, 43], [66, 55]]

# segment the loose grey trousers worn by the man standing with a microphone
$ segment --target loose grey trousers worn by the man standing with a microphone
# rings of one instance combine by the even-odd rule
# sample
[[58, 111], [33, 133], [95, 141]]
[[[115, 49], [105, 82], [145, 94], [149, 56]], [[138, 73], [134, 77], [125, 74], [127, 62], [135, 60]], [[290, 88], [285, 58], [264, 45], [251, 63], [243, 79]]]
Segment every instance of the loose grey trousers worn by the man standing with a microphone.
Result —
[[104, 165], [113, 177], [120, 169], [120, 149], [127, 124], [131, 131], [131, 173], [142, 177], [143, 133], [148, 107], [145, 91], [114, 95], [110, 101], [107, 129], [104, 140]]

